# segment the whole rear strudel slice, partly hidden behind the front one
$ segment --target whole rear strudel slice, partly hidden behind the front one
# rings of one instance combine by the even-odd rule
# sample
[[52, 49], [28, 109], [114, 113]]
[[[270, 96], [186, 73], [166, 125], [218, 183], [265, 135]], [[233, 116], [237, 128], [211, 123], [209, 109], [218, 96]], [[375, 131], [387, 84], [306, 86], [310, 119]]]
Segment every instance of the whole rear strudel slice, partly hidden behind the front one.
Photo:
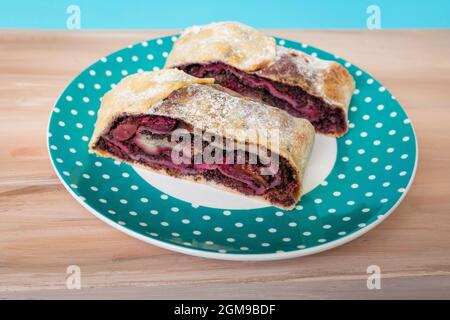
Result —
[[237, 22], [187, 28], [166, 68], [217, 84], [308, 119], [317, 132], [342, 136], [355, 87], [339, 63], [277, 46], [275, 40]]

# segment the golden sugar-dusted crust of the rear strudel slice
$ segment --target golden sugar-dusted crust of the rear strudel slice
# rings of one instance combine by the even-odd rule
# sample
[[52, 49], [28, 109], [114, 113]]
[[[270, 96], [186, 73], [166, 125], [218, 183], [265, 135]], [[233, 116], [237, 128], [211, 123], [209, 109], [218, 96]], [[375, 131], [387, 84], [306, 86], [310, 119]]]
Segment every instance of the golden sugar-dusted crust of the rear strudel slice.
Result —
[[337, 62], [276, 46], [273, 38], [241, 23], [213, 23], [186, 29], [169, 54], [166, 67], [212, 62], [222, 62], [263, 78], [298, 86], [332, 107], [342, 109], [347, 116], [355, 81], [344, 67]]

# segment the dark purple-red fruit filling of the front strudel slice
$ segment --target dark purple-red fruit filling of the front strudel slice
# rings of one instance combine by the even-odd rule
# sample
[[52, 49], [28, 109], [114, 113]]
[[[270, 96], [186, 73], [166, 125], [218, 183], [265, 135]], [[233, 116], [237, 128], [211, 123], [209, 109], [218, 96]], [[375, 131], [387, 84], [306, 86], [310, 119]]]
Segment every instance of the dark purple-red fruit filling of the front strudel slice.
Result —
[[[295, 202], [299, 184], [293, 177], [295, 173], [289, 163], [280, 157], [278, 170], [271, 175], [263, 174], [267, 169], [259, 159], [250, 163], [250, 154], [245, 153], [241, 163], [197, 164], [194, 152], [191, 159], [182, 163], [172, 161], [172, 149], [176, 141], [171, 140], [175, 129], [190, 126], [183, 121], [164, 116], [142, 115], [123, 116], [116, 119], [109, 131], [103, 134], [97, 148], [130, 162], [140, 163], [155, 169], [166, 169], [169, 174], [202, 176], [247, 195], [264, 195], [272, 202], [290, 206]], [[194, 138], [191, 134], [191, 141]], [[203, 148], [208, 145], [203, 141]], [[194, 150], [191, 146], [191, 150]], [[226, 159], [225, 151], [223, 159]], [[238, 158], [235, 151], [235, 159]]]

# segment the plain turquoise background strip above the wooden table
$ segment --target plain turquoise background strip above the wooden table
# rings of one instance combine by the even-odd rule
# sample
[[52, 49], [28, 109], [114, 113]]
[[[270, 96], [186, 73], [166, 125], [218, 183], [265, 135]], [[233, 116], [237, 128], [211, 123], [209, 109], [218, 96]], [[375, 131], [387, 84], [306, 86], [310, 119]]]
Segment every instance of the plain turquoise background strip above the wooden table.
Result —
[[364, 29], [369, 5], [382, 28], [449, 28], [450, 0], [0, 0], [0, 28], [66, 29], [66, 9], [81, 9], [82, 29], [179, 29], [239, 20], [256, 28]]

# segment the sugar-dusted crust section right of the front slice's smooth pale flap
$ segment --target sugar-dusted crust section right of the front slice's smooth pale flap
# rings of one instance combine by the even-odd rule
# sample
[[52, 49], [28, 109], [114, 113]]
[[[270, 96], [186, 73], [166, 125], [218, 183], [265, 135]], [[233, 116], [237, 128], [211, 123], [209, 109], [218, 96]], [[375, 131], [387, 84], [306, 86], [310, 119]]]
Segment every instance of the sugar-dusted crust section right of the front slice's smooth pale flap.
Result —
[[314, 140], [314, 128], [309, 121], [210, 85], [183, 87], [156, 103], [147, 113], [180, 119], [197, 129], [243, 143], [252, 130], [258, 131], [260, 137], [277, 132], [279, 145], [272, 145], [271, 149], [279, 151], [277, 153], [290, 160], [300, 172], [303, 172]]

